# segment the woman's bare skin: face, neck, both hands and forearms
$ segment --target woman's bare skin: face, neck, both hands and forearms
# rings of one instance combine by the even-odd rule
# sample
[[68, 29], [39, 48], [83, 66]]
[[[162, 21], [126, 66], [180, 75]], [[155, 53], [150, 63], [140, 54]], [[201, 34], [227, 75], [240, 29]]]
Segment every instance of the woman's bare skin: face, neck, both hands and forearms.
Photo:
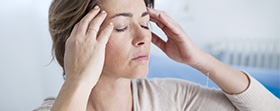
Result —
[[[131, 79], [148, 73], [148, 60], [133, 58], [149, 55], [151, 42], [171, 59], [210, 72], [210, 79], [227, 93], [241, 93], [248, 87], [245, 74], [200, 50], [171, 17], [146, 8], [143, 0], [104, 0], [99, 7], [75, 25], [66, 42], [66, 80], [52, 111], [132, 110]], [[142, 17], [144, 12], [149, 15]], [[112, 18], [118, 13], [133, 16]], [[149, 20], [165, 32], [167, 42], [145, 28]], [[126, 26], [125, 31], [117, 31]]]

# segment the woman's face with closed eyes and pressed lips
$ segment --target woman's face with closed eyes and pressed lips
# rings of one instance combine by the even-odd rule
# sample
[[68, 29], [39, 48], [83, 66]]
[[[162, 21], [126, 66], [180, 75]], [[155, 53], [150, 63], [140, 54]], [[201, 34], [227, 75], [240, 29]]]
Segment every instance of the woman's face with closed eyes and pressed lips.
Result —
[[112, 22], [114, 30], [107, 43], [103, 74], [129, 79], [148, 74], [151, 32], [144, 0], [104, 0], [108, 15], [101, 29]]

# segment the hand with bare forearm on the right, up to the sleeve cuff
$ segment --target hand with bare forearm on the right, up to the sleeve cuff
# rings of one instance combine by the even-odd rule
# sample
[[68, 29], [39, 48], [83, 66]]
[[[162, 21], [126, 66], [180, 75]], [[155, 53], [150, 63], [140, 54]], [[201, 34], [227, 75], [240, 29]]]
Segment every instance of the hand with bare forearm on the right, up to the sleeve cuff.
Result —
[[165, 12], [150, 8], [148, 12], [151, 21], [155, 22], [168, 37], [165, 42], [153, 33], [152, 42], [171, 59], [188, 64], [204, 74], [211, 74], [210, 79], [227, 93], [239, 94], [248, 88], [249, 79], [244, 73], [223, 64], [199, 49]]

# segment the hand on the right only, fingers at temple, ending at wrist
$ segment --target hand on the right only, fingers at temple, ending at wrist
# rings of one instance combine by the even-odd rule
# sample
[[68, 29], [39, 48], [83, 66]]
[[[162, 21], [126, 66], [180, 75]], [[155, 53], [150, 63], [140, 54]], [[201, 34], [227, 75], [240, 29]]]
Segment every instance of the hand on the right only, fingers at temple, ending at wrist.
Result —
[[171, 59], [194, 66], [199, 64], [201, 51], [188, 37], [185, 31], [163, 11], [147, 8], [150, 20], [155, 22], [167, 35], [165, 42], [156, 34], [152, 33], [152, 42], [158, 46]]

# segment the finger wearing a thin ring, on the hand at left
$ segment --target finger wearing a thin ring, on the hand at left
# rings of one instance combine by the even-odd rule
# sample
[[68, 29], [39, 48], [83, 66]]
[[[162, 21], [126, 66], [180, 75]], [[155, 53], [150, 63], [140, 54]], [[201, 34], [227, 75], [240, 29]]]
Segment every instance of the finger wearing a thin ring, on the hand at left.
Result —
[[88, 26], [88, 31], [86, 34], [96, 37], [96, 35], [99, 31], [100, 25], [103, 23], [106, 16], [107, 16], [107, 13], [104, 10], [101, 11], [101, 13], [90, 22], [90, 24]]

